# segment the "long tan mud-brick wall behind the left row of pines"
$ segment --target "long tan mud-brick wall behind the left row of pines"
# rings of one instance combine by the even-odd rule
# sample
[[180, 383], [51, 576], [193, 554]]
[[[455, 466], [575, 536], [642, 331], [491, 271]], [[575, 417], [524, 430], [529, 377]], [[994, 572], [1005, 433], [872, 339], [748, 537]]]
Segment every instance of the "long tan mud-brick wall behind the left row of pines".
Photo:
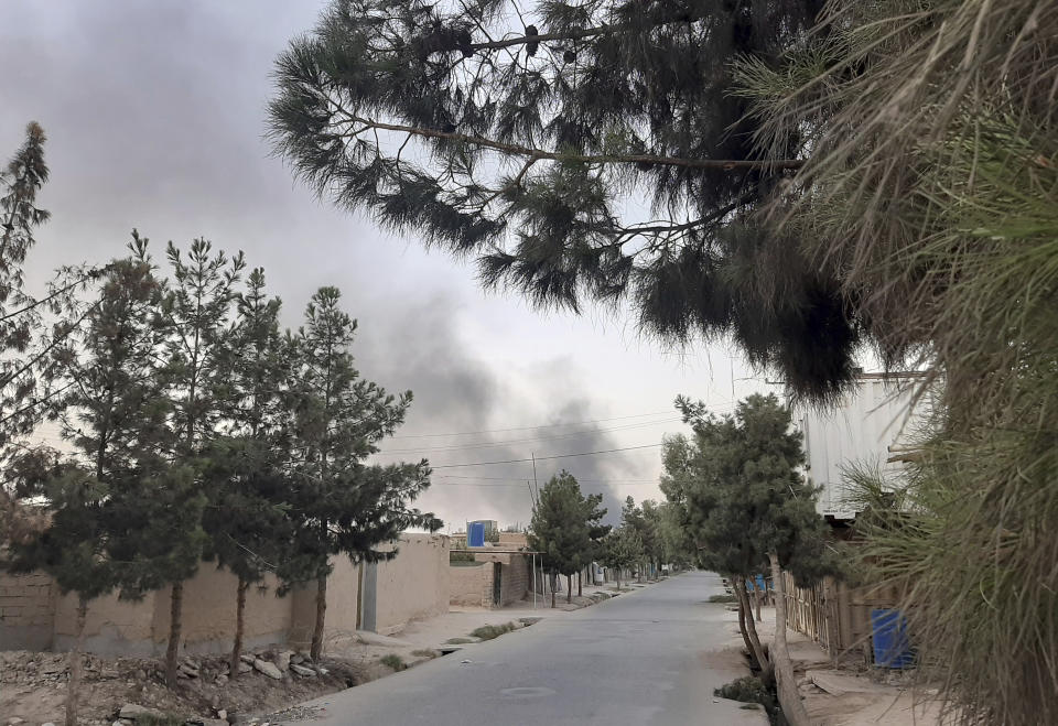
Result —
[[[247, 593], [245, 642], [302, 642], [315, 618], [315, 582], [276, 597], [278, 583]], [[182, 649], [224, 652], [235, 630], [234, 575], [203, 563], [184, 583]], [[10, 575], [0, 572], [0, 650], [65, 650], [76, 636], [76, 595], [60, 595], [46, 574]], [[169, 636], [169, 589], [148, 593], [139, 600], [121, 600], [116, 593], [88, 605], [85, 648], [97, 654], [160, 655]], [[409, 620], [449, 609], [449, 541], [440, 534], [403, 534], [400, 553], [379, 565], [376, 593], [377, 625], [391, 632]], [[327, 583], [325, 637], [356, 628], [358, 568], [338, 557]]]

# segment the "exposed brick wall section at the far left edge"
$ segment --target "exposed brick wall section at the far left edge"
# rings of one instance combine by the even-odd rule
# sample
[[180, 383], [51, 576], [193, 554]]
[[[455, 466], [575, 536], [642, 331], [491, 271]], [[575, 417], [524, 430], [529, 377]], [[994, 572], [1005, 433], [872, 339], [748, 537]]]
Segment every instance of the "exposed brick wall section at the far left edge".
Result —
[[51, 648], [56, 589], [44, 574], [0, 573], [0, 649]]

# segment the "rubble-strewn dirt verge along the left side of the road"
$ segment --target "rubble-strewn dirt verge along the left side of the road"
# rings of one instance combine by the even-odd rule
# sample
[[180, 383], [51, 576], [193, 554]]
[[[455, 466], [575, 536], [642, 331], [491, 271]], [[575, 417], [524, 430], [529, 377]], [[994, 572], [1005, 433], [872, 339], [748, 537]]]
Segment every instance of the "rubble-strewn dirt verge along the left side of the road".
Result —
[[[326, 654], [319, 662], [283, 646], [258, 648], [246, 653], [235, 676], [225, 657], [187, 657], [181, 663], [182, 678], [175, 690], [164, 685], [158, 659], [88, 654], [82, 723], [136, 724], [134, 717], [121, 718], [122, 708], [132, 716], [137, 708], [126, 707], [134, 706], [169, 718], [154, 723], [263, 724], [267, 714], [412, 668], [507, 629], [523, 628], [544, 617], [563, 617], [616, 594], [611, 587], [585, 587], [583, 597], [574, 597], [572, 603], [560, 598], [555, 609], [546, 607], [550, 603], [542, 599], [536, 605], [530, 599], [499, 610], [453, 610], [412, 621], [392, 636], [336, 633], [325, 643]], [[0, 726], [62, 724], [67, 678], [66, 653], [0, 651]]]

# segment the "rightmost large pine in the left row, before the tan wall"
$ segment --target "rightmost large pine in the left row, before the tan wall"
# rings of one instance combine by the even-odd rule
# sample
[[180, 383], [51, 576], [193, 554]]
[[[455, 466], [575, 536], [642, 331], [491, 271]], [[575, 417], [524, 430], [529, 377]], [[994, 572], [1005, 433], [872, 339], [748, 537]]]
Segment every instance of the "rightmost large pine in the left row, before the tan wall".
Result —
[[360, 378], [349, 351], [356, 322], [341, 310], [339, 301], [336, 288], [321, 288], [305, 310], [305, 324], [291, 339], [295, 552], [280, 574], [290, 584], [316, 584], [312, 658], [323, 650], [331, 556], [388, 560], [397, 550], [378, 551], [379, 544], [395, 542], [409, 527], [441, 525], [432, 514], [409, 507], [430, 486], [425, 459], [364, 464], [378, 451], [377, 443], [403, 423], [411, 391], [395, 397]]

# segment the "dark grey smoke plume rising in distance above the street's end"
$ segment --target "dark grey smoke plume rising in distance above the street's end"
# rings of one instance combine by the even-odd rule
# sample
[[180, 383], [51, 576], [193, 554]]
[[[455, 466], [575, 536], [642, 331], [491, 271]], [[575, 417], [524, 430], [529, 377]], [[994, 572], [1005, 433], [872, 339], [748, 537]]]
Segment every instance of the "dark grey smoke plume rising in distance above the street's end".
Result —
[[[461, 314], [456, 301], [435, 295], [388, 310], [385, 326], [360, 325], [355, 351], [361, 373], [390, 390], [414, 393], [400, 437], [382, 443], [379, 460], [425, 457], [446, 467], [622, 447], [612, 424], [569, 425], [607, 415], [577, 394], [589, 371], [564, 356], [499, 369], [465, 339]], [[549, 424], [553, 427], [436, 435]], [[543, 458], [537, 463], [537, 478], [542, 486], [559, 470], [569, 470], [583, 479], [582, 490], [603, 495], [613, 517], [624, 497], [607, 483], [649, 476], [654, 467], [645, 466], [650, 458], [646, 451]], [[526, 483], [532, 478], [532, 464], [526, 462], [438, 468], [423, 506], [456, 529], [473, 519], [525, 524], [531, 517]]]

